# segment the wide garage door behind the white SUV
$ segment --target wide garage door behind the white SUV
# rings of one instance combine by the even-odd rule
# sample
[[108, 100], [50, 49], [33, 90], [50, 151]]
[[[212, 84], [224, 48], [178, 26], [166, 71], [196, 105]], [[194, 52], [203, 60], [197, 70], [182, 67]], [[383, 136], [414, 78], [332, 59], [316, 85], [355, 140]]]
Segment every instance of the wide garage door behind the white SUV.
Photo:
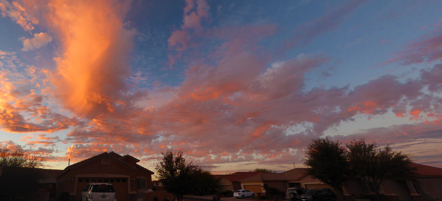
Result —
[[88, 178], [88, 177], [79, 177], [77, 180], [77, 198], [76, 201], [81, 200], [82, 189], [88, 185], [88, 183], [112, 183], [112, 186], [115, 189], [115, 194], [117, 196], [117, 200], [127, 200], [129, 196], [129, 192], [127, 189], [127, 178]]

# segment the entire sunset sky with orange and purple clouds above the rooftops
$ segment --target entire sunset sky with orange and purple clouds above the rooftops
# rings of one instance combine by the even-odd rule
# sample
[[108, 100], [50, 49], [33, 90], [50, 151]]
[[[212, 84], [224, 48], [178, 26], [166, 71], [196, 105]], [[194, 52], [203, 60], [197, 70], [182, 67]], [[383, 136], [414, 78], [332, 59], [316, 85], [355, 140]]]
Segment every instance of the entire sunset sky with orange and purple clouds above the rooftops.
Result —
[[0, 144], [64, 169], [302, 167], [312, 139], [442, 168], [440, 1], [0, 0]]

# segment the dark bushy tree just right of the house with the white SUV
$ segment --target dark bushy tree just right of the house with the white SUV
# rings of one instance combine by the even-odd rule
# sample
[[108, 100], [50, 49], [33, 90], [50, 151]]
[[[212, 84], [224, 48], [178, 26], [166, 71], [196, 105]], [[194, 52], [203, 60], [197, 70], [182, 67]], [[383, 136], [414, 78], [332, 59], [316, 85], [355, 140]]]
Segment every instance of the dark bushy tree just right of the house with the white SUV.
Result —
[[193, 162], [188, 162], [183, 152], [172, 152], [169, 149], [166, 153], [161, 152], [163, 160], [156, 165], [158, 178], [164, 185], [164, 189], [176, 195], [181, 201], [183, 195], [194, 189], [194, 175], [200, 169]]

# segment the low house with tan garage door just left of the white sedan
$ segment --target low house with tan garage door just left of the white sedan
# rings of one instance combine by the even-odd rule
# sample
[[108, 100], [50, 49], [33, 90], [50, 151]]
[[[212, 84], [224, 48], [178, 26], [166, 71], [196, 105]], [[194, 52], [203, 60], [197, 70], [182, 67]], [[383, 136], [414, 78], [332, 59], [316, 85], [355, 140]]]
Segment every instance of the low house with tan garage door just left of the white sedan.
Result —
[[241, 179], [259, 174], [259, 172], [235, 172], [233, 174], [214, 175], [218, 192], [241, 189]]

